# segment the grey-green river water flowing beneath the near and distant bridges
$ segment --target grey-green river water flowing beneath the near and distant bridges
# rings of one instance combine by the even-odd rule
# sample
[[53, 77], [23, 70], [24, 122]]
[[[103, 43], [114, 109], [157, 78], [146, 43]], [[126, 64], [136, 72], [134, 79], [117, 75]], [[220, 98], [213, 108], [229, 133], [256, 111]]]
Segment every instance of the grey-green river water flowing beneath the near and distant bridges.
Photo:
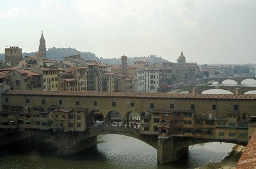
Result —
[[[224, 83], [223, 85], [228, 84]], [[211, 90], [206, 93], [220, 92], [226, 93], [218, 90]], [[252, 93], [256, 92], [253, 91]], [[38, 142], [38, 140], [40, 141]], [[179, 161], [160, 165], [157, 163], [156, 149], [129, 136], [100, 135], [96, 146], [63, 157], [58, 157], [58, 149], [56, 144], [51, 142], [51, 139], [35, 136], [30, 140], [0, 147], [0, 169], [196, 168], [207, 163], [220, 162], [232, 151], [233, 146], [232, 143], [220, 142], [193, 145], [189, 147], [189, 153], [180, 158]]]

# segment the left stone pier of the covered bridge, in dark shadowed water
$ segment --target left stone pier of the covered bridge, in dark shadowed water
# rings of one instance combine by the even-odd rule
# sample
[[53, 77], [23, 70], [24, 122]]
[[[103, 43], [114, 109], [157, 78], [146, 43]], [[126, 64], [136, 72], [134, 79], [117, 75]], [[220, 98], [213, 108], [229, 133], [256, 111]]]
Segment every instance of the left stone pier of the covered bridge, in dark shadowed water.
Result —
[[[85, 137], [85, 133], [57, 133], [58, 155], [65, 156], [97, 145], [97, 136]], [[56, 140], [56, 139], [54, 139]]]

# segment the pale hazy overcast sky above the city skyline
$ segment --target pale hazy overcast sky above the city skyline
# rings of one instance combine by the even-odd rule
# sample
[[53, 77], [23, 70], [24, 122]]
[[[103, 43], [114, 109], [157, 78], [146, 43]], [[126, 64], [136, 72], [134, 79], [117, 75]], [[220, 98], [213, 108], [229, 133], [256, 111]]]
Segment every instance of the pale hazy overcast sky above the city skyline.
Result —
[[176, 62], [256, 62], [256, 1], [0, 0], [0, 52], [73, 47], [102, 57], [156, 54]]

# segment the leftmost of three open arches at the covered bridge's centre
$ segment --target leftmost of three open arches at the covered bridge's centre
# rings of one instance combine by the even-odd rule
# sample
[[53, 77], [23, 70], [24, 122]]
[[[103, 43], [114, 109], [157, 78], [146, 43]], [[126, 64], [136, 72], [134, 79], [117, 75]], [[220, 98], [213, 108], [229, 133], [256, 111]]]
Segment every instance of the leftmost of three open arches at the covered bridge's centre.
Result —
[[87, 124], [88, 126], [103, 126], [104, 115], [99, 110], [92, 110], [88, 114]]

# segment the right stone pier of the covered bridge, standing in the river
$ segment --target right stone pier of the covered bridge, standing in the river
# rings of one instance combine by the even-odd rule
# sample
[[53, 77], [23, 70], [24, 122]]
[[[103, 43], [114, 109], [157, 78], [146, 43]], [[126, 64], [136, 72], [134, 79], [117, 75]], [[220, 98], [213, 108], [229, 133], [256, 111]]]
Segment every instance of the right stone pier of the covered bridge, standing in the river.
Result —
[[157, 143], [157, 161], [170, 163], [177, 161], [181, 156], [188, 153], [188, 146], [175, 144], [175, 138], [159, 138]]

